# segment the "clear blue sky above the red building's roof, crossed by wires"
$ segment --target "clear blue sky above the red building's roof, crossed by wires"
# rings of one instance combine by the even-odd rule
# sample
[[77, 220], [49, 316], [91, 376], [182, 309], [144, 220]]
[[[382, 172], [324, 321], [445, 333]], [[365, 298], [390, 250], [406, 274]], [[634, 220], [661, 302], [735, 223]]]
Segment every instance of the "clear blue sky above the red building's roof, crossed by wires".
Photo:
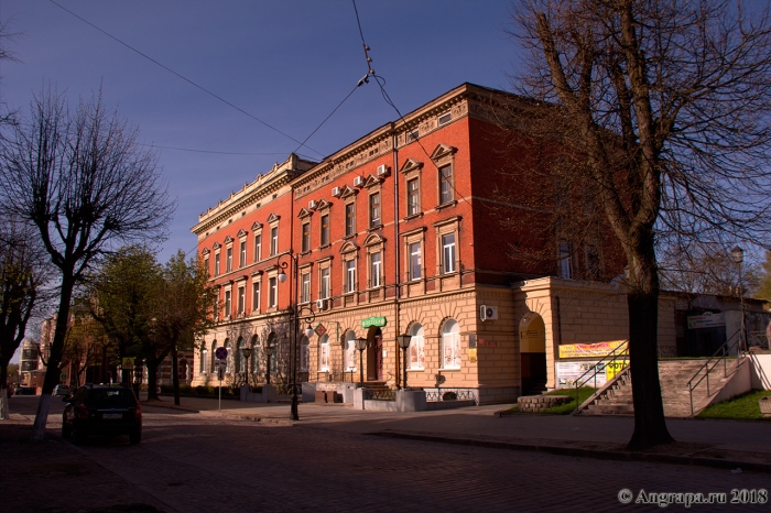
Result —
[[[350, 0], [56, 0], [137, 51], [296, 140], [366, 74]], [[508, 0], [358, 0], [372, 67], [408, 112], [464, 81], [508, 88], [518, 48]], [[178, 201], [160, 260], [195, 248], [197, 215], [282, 162], [297, 143], [121, 45], [50, 0], [0, 0], [0, 95], [25, 110], [44, 84], [107, 105], [156, 146]], [[358, 88], [301, 154], [321, 159], [397, 118], [374, 84]], [[166, 148], [162, 148], [166, 146]], [[169, 148], [197, 150], [178, 151]], [[206, 153], [219, 152], [219, 153]]]

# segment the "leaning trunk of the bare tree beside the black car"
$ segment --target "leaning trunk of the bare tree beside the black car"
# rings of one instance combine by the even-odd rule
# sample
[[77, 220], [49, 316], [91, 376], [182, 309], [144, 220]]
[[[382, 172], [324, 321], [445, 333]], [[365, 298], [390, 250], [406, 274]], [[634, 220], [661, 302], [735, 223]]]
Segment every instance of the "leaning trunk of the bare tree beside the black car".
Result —
[[62, 354], [64, 353], [64, 341], [67, 336], [67, 325], [69, 324], [69, 302], [73, 298], [73, 288], [75, 281], [63, 271], [62, 276], [62, 294], [58, 302], [58, 312], [56, 314], [56, 328], [54, 329], [54, 338], [51, 342], [51, 354], [48, 354], [48, 364], [43, 380], [43, 392], [37, 402], [37, 413], [35, 423], [32, 426], [32, 440], [42, 441], [45, 438], [45, 425], [48, 422], [48, 406], [51, 405], [51, 393], [54, 386], [58, 384], [59, 365], [62, 363]]

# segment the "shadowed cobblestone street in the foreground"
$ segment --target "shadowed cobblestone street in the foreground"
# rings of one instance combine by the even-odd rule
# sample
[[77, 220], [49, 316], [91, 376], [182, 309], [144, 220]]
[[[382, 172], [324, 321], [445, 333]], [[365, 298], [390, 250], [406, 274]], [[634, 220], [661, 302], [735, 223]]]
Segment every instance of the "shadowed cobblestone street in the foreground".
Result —
[[[57, 425], [52, 415], [52, 433]], [[768, 474], [751, 472], [389, 439], [323, 425], [224, 422], [161, 408], [145, 410], [139, 446], [121, 438], [82, 447], [54, 439], [33, 452], [20, 444], [14, 455], [11, 445], [0, 444], [3, 468], [23, 455], [47, 470], [0, 480], [3, 511], [76, 512], [109, 501], [167, 512], [660, 511], [634, 504], [641, 489], [723, 492], [730, 501], [732, 489], [771, 488]], [[619, 502], [622, 489], [632, 492], [632, 504]]]

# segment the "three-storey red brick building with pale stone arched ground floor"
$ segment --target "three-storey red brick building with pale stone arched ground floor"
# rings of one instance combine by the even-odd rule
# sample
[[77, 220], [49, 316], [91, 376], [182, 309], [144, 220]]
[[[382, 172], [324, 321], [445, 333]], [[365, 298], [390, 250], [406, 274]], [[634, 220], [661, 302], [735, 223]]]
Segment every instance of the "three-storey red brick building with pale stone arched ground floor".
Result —
[[[216, 383], [220, 346], [229, 381], [248, 371], [263, 382], [270, 371], [281, 382], [287, 309], [297, 304], [316, 328], [300, 342], [300, 379], [319, 388], [358, 382], [360, 365], [366, 381], [401, 384], [400, 334], [412, 336], [412, 388], [474, 389], [492, 403], [554, 386], [554, 296], [572, 276], [508, 255], [510, 242], [537, 242], [526, 226], [503, 230], [496, 217], [499, 172], [512, 155], [497, 148], [491, 112], [501, 95], [464, 84], [319, 163], [290, 155], [200, 215], [193, 232], [219, 290], [219, 323], [197, 345], [193, 384]], [[522, 184], [523, 194], [536, 185]], [[601, 255], [593, 249], [571, 272], [621, 272], [623, 262]], [[626, 338], [625, 329], [599, 327], [588, 340]], [[368, 340], [361, 354], [359, 337]], [[253, 347], [249, 362], [245, 345]]]

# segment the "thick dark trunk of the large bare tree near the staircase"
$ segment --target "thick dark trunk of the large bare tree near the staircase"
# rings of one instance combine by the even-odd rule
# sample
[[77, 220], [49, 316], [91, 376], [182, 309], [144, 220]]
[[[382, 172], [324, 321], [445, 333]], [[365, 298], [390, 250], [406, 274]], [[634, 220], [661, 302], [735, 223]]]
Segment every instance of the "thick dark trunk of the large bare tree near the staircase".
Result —
[[[641, 244], [648, 247], [649, 244]], [[674, 441], [666, 428], [659, 381], [659, 276], [655, 254], [639, 247], [630, 259], [629, 365], [632, 375], [634, 433], [629, 450], [642, 450]]]

